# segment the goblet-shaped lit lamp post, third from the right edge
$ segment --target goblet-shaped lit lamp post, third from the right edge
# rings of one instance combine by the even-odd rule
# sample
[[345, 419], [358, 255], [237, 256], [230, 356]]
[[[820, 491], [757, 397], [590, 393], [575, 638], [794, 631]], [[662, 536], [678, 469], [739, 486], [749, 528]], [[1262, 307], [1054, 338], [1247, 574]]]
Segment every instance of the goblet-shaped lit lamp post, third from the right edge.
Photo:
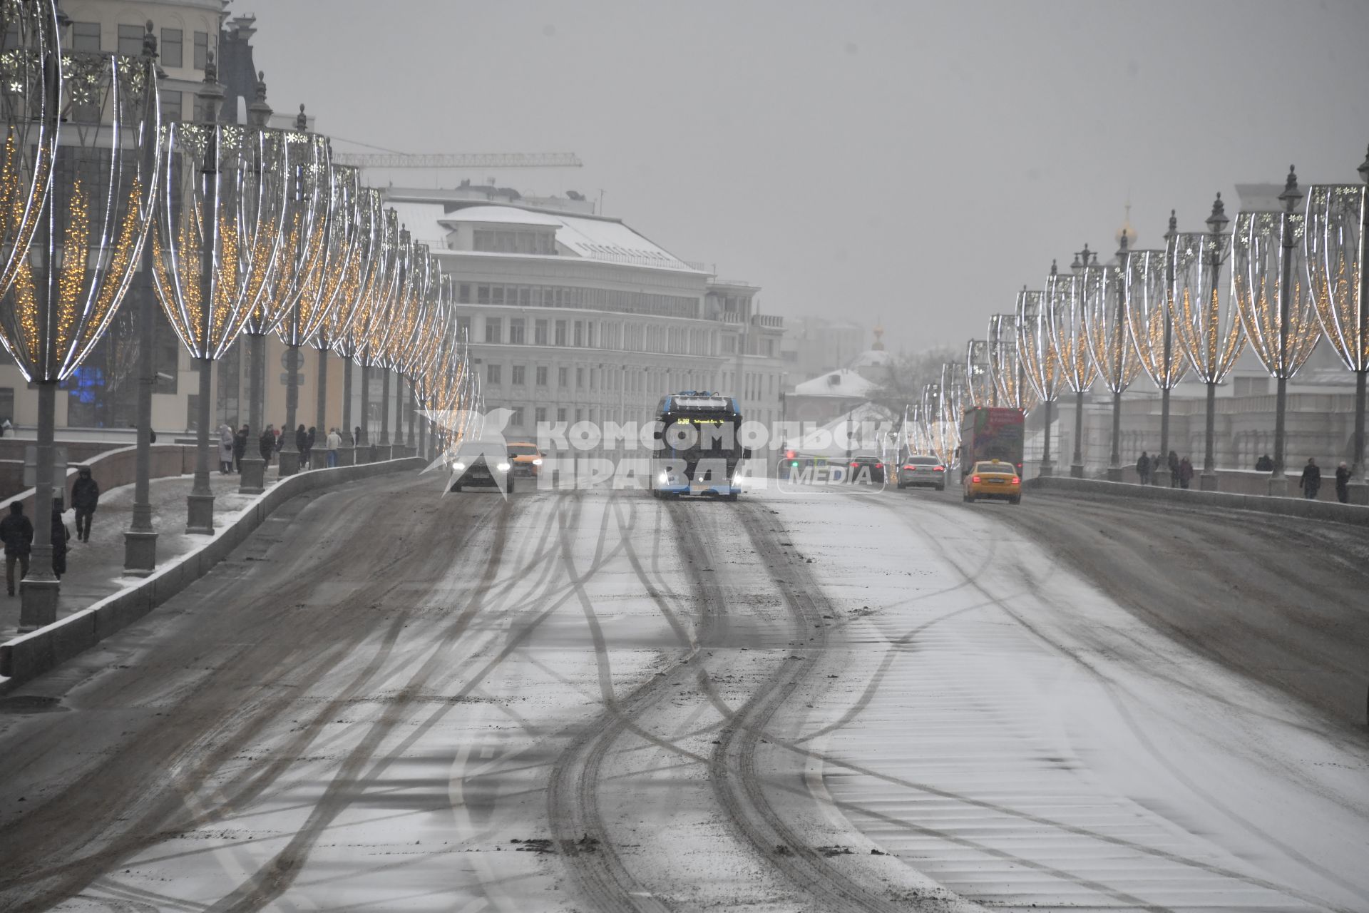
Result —
[[[1221, 287], [1227, 259], [1227, 234], [1221, 194], [1212, 204], [1206, 233], [1183, 233], [1175, 245], [1175, 330], [1194, 374], [1207, 385], [1207, 420], [1203, 433], [1203, 468], [1199, 487], [1217, 490], [1216, 423], [1217, 385], [1236, 365], [1246, 345], [1240, 316], [1229, 293]], [[1229, 290], [1228, 290], [1229, 292]]]

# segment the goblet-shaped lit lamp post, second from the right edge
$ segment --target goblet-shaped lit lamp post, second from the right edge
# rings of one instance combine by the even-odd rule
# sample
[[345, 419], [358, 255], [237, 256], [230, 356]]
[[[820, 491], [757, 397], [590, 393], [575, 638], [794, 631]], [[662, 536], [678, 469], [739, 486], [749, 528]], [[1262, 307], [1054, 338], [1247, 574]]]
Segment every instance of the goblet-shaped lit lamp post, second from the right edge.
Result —
[[1269, 476], [1269, 494], [1287, 497], [1288, 381], [1317, 348], [1321, 326], [1317, 323], [1316, 301], [1303, 282], [1306, 215], [1299, 211], [1302, 192], [1291, 166], [1279, 198], [1284, 204], [1283, 212], [1236, 214], [1231, 275], [1246, 339], [1277, 383], [1275, 468]]

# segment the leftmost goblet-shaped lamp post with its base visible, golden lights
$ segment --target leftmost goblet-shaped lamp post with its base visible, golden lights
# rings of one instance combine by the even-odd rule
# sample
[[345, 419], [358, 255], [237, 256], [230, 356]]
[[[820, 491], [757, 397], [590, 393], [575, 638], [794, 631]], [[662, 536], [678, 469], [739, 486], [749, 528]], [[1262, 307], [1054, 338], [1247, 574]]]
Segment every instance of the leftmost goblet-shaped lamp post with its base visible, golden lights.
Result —
[[[25, 25], [23, 14], [12, 8], [7, 12], [18, 18], [7, 26]], [[22, 42], [23, 31], [18, 36], [11, 31], [7, 41], [16, 37]], [[66, 126], [51, 156], [41, 149], [31, 152], [44, 160], [52, 179], [49, 192], [38, 201], [16, 197], [7, 203], [16, 208], [38, 203], [40, 208], [31, 241], [14, 238], [27, 244], [27, 256], [15, 263], [0, 308], [4, 348], [38, 389], [34, 538], [29, 575], [21, 584], [21, 631], [56, 620], [53, 498], [62, 498], [66, 480], [66, 467], [60, 478], [53, 467], [57, 385], [81, 367], [127, 294], [141, 259], [152, 209], [149, 200], [159, 177], [157, 160], [146, 149], [156, 144], [159, 116], [156, 78], [148, 60], [141, 55], [59, 53], [55, 27], [34, 37], [51, 38], [41, 56], [38, 48], [7, 49], [8, 64], [16, 64], [19, 71], [7, 71], [4, 94], [25, 88], [25, 67], [19, 60], [38, 66], [41, 59], [42, 99], [30, 110], [30, 116], [44, 119], [37, 142], [56, 134], [59, 111]], [[7, 107], [11, 101], [7, 97]], [[8, 142], [18, 136], [11, 129]], [[7, 152], [5, 190], [18, 190], [23, 162], [23, 156], [11, 159]]]

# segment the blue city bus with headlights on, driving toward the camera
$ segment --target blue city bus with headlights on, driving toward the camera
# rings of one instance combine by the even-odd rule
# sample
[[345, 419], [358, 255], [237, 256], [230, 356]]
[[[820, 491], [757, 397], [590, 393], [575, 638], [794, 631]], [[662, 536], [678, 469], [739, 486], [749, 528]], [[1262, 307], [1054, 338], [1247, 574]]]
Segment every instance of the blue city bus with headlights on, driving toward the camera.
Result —
[[735, 397], [682, 390], [661, 397], [653, 438], [652, 497], [702, 494], [735, 501], [738, 464], [752, 452], [741, 443], [742, 408]]

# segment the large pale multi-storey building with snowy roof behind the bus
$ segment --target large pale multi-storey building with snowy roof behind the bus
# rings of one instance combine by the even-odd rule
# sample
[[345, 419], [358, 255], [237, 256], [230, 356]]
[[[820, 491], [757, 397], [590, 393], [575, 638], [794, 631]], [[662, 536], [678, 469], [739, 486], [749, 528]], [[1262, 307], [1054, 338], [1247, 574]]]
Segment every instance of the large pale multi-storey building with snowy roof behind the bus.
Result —
[[534, 439], [543, 422], [649, 422], [679, 390], [780, 419], [783, 320], [758, 313], [757, 286], [717, 282], [587, 203], [493, 188], [386, 196], [453, 278], [486, 409], [512, 411], [505, 438]]

